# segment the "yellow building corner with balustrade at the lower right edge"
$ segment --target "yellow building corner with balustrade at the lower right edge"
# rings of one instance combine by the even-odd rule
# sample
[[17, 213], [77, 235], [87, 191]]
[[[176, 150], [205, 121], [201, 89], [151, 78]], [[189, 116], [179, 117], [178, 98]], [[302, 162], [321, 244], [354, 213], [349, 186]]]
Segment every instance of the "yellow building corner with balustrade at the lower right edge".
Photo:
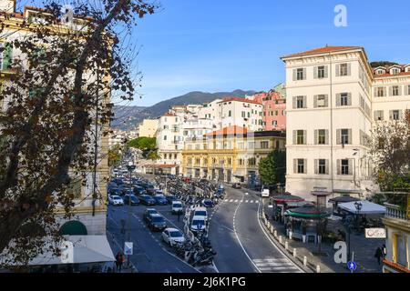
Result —
[[399, 206], [385, 204], [383, 219], [386, 238], [384, 273], [410, 273], [410, 194], [407, 196], [406, 210]]

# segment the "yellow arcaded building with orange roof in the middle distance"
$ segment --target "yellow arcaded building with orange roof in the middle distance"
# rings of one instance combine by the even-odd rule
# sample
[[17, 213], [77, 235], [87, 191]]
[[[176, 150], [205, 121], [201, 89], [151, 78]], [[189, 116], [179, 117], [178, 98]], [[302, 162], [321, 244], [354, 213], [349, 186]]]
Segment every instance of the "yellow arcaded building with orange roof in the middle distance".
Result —
[[261, 158], [284, 150], [285, 140], [280, 131], [251, 132], [237, 125], [190, 138], [182, 151], [183, 176], [254, 184]]

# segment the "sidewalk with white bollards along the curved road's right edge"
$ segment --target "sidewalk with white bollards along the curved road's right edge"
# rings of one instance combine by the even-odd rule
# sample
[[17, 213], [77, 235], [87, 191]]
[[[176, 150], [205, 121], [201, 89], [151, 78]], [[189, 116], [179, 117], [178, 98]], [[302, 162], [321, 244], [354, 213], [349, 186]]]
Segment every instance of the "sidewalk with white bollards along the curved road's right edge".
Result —
[[[282, 241], [288, 242], [289, 249], [296, 249], [298, 257], [306, 256], [308, 265], [315, 270], [316, 266], [320, 266], [321, 273], [350, 273], [351, 271], [346, 268], [346, 265], [334, 262], [333, 256], [335, 250], [333, 245], [329, 243], [321, 244], [321, 253], [324, 256], [315, 256], [313, 253], [318, 252], [318, 245], [314, 243], [305, 243], [302, 241], [289, 239], [286, 237], [286, 231], [282, 224], [272, 220], [272, 208], [268, 207], [268, 204], [264, 204], [264, 212], [269, 217], [269, 226], [273, 227], [273, 230], [277, 231], [277, 236], [282, 236]], [[277, 241], [277, 239], [276, 239]], [[279, 244], [279, 242], [278, 242]], [[284, 243], [283, 243], [284, 244]], [[382, 265], [377, 264], [377, 260], [374, 257], [375, 249], [378, 246], [383, 246], [384, 239], [367, 239], [364, 234], [351, 235], [351, 251], [354, 253], [354, 262], [357, 265], [355, 273], [381, 273]]]

